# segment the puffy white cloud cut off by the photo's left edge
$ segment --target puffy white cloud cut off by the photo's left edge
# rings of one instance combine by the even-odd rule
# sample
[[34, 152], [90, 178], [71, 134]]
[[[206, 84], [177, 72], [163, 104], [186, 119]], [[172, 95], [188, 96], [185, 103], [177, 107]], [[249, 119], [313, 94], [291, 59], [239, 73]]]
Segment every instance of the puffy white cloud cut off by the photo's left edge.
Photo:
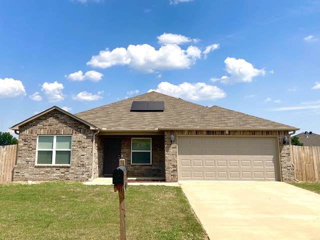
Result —
[[13, 78], [0, 78], [0, 98], [25, 95], [25, 89], [20, 80]]

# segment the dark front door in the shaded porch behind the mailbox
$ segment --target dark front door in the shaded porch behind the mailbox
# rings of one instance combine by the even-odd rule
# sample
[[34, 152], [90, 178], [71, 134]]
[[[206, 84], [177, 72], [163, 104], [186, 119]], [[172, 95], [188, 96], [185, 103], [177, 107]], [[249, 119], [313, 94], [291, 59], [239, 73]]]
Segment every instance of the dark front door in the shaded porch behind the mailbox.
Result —
[[119, 166], [121, 138], [104, 138], [103, 152], [103, 175], [112, 175], [113, 170]]

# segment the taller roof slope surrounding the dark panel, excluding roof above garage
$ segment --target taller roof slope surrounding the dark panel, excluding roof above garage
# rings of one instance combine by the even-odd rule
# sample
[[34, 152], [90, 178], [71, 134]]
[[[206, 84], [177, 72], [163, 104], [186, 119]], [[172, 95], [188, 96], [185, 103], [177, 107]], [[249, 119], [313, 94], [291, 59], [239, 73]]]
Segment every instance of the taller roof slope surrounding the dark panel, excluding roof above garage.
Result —
[[[130, 111], [132, 101], [164, 101], [163, 111]], [[159, 126], [169, 127], [172, 122], [190, 116], [205, 106], [151, 91], [113, 102], [75, 115], [98, 126], [102, 130], [151, 130]]]

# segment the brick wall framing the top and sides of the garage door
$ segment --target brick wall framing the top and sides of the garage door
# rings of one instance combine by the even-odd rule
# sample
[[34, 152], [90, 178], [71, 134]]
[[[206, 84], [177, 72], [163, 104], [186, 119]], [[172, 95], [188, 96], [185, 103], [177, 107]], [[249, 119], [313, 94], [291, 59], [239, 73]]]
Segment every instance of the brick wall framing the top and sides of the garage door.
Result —
[[[170, 136], [173, 134], [174, 142], [171, 144]], [[178, 180], [177, 174], [177, 135], [230, 135], [230, 136], [278, 136], [281, 180], [293, 182], [295, 180], [294, 167], [290, 157], [290, 145], [283, 144], [283, 137], [288, 136], [288, 131], [197, 131], [197, 130], [167, 130], [164, 132], [165, 149], [165, 181]], [[288, 136], [289, 137], [289, 136]]]

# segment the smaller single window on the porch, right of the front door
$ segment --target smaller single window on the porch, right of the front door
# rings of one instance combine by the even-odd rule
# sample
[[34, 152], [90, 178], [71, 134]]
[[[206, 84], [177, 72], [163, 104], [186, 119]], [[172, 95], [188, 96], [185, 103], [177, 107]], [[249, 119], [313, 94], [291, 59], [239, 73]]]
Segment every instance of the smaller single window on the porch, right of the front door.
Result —
[[151, 164], [151, 138], [131, 138], [131, 164]]

